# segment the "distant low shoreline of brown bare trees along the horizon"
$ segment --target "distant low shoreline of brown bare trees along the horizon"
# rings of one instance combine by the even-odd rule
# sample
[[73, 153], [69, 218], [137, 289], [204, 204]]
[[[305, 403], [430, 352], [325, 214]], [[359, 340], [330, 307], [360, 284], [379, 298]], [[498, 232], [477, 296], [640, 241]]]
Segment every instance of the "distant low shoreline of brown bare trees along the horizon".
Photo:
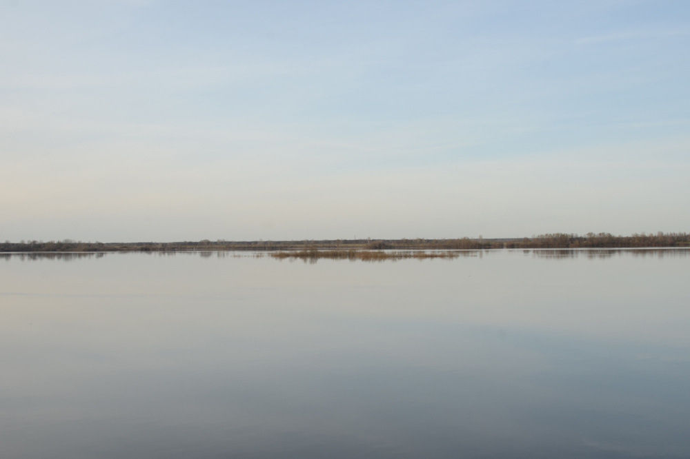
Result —
[[542, 234], [531, 238], [326, 239], [321, 241], [182, 241], [173, 243], [100, 243], [21, 241], [0, 243], [0, 252], [187, 252], [197, 250], [477, 250], [477, 249], [619, 249], [690, 247], [688, 233]]

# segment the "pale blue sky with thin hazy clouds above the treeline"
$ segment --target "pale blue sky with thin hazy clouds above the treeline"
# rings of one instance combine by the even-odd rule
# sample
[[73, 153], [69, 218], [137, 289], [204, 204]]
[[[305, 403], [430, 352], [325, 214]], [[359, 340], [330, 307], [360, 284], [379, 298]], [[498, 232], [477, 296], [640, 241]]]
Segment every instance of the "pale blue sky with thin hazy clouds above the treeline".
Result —
[[0, 0], [0, 240], [690, 231], [690, 2]]

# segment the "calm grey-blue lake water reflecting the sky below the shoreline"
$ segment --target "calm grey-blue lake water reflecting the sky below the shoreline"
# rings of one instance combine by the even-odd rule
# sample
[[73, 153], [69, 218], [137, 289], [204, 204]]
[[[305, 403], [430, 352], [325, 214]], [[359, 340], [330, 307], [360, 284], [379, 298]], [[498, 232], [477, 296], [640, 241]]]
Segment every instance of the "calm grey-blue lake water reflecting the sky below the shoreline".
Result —
[[690, 254], [0, 258], [0, 458], [689, 458]]

